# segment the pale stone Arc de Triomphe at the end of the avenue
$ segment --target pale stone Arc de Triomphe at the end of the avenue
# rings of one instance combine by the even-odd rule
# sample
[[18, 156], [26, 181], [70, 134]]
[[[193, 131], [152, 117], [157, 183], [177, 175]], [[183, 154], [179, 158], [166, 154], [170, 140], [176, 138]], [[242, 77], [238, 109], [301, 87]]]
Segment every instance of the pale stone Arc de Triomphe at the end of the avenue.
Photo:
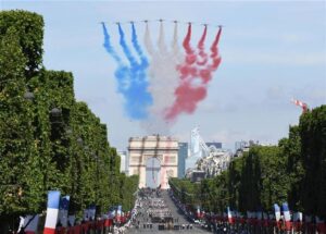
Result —
[[140, 188], [161, 186], [166, 189], [170, 188], [168, 177], [178, 176], [176, 138], [160, 135], [130, 137], [128, 155], [129, 175], [139, 175]]

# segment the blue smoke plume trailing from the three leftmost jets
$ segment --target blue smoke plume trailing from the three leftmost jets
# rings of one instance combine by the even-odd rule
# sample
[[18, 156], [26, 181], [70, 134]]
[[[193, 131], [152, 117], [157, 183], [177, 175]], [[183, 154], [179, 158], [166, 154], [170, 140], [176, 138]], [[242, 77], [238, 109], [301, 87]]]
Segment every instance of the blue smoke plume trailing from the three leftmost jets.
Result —
[[110, 42], [110, 35], [108, 29], [102, 23], [104, 34], [104, 48], [108, 53], [116, 61], [117, 69], [114, 73], [117, 81], [117, 90], [124, 96], [125, 110], [127, 115], [135, 120], [142, 120], [148, 116], [147, 109], [152, 104], [152, 97], [148, 93], [148, 81], [146, 77], [146, 70], [148, 67], [148, 60], [142, 54], [141, 48], [137, 41], [137, 34], [134, 25], [131, 25], [133, 36], [131, 41], [135, 50], [140, 57], [140, 62], [130, 52], [126, 41], [124, 32], [118, 25], [120, 45], [123, 48], [129, 64], [124, 64], [117, 53], [113, 50]]

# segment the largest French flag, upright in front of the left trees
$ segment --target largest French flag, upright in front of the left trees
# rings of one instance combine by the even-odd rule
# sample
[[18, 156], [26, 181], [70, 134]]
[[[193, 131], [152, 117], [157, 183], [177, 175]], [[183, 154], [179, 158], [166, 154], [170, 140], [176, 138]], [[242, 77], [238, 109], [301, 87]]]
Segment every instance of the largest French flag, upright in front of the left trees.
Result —
[[43, 234], [54, 234], [59, 214], [60, 192], [50, 190], [48, 193], [48, 209]]

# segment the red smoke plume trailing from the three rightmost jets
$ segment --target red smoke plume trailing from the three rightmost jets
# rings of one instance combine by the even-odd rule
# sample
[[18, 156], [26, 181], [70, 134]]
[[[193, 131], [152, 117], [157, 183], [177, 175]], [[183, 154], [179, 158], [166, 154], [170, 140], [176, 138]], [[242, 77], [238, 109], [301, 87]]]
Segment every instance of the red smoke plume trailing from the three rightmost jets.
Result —
[[187, 35], [184, 39], [186, 60], [177, 69], [180, 72], [180, 84], [175, 90], [176, 100], [167, 109], [165, 120], [174, 121], [180, 113], [193, 113], [199, 101], [206, 97], [208, 83], [212, 79], [212, 73], [218, 67], [221, 57], [218, 54], [218, 41], [222, 28], [211, 46], [210, 63], [204, 52], [204, 40], [206, 27], [198, 44], [198, 56], [190, 46], [191, 24], [188, 26]]

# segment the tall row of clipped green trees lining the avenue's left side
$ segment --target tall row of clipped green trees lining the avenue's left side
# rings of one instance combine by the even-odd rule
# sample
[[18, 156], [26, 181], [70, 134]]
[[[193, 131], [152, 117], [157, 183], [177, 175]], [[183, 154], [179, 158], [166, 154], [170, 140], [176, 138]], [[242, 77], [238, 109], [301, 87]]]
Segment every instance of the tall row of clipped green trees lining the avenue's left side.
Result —
[[70, 211], [133, 207], [138, 177], [120, 173], [108, 130], [76, 101], [73, 75], [42, 65], [43, 20], [0, 12], [0, 220], [46, 209], [47, 192], [71, 196]]

